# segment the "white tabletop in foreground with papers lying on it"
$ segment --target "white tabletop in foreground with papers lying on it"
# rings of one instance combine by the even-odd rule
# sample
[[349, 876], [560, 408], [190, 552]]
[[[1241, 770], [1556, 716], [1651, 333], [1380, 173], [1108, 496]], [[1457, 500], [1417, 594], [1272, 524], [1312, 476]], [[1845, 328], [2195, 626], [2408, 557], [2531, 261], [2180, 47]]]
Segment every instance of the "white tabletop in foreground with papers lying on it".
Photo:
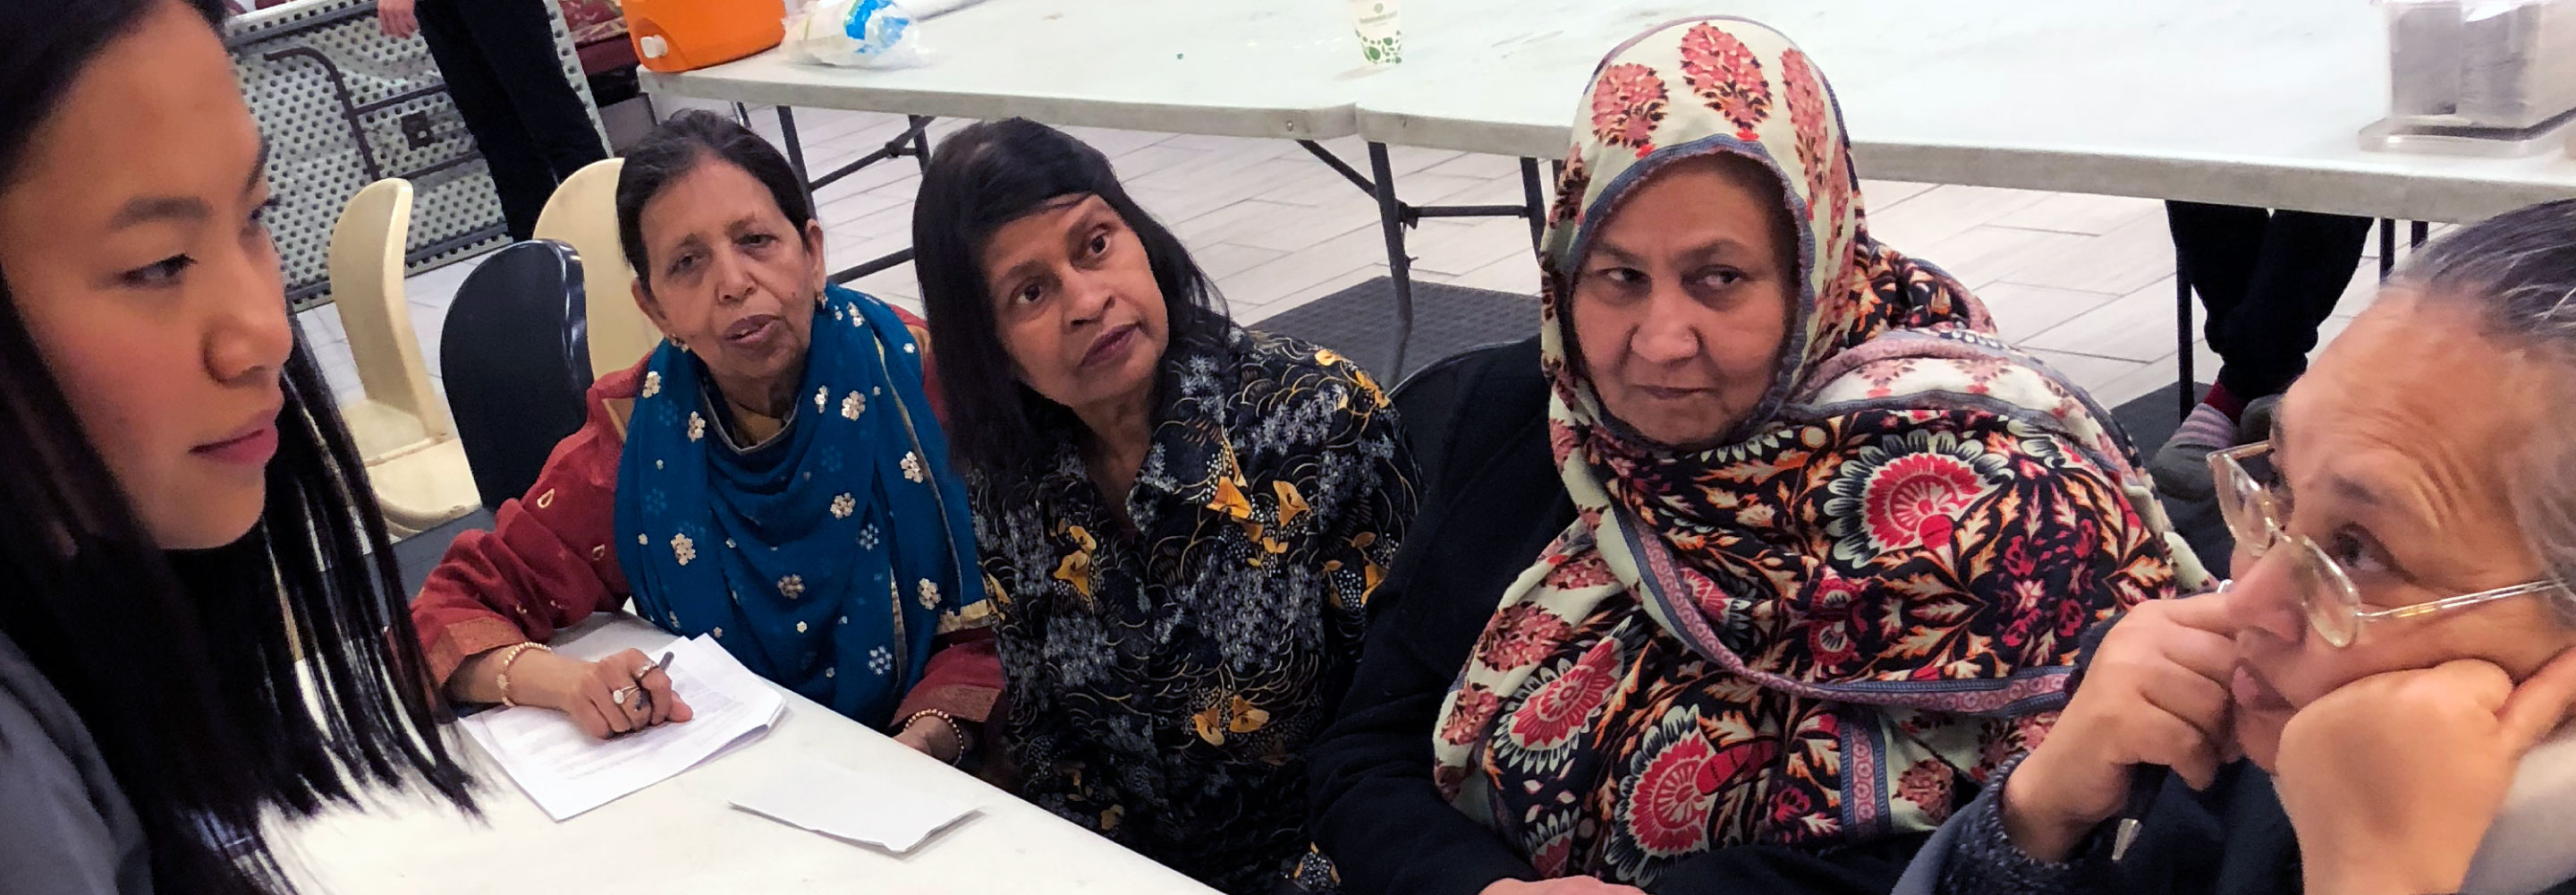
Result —
[[[554, 647], [598, 658], [670, 642], [634, 616], [592, 619]], [[832, 709], [788, 694], [768, 738], [564, 823], [546, 818], [471, 743], [484, 782], [482, 820], [422, 797], [374, 797], [366, 810], [273, 825], [289, 872], [309, 892], [1121, 892], [1211, 890], [1036, 805], [914, 753]], [[819, 758], [981, 805], [981, 815], [894, 856], [729, 807], [791, 758]]]

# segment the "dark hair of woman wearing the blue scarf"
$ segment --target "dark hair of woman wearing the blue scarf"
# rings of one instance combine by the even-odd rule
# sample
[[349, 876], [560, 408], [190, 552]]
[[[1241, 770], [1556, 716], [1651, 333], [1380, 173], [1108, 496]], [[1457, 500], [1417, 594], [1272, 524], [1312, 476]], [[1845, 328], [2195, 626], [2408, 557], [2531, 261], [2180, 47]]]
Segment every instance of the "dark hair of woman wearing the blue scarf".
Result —
[[796, 178], [788, 157], [778, 155], [778, 147], [760, 139], [742, 121], [714, 111], [690, 108], [675, 113], [654, 126], [652, 134], [644, 134], [634, 150], [626, 150], [626, 162], [618, 165], [618, 248], [626, 250], [626, 263], [636, 268], [636, 281], [644, 289], [652, 289], [652, 268], [644, 263], [644, 204], [662, 196], [670, 181], [677, 181], [708, 157], [732, 162], [770, 188], [778, 214], [786, 214], [788, 227], [796, 227], [799, 245], [804, 242], [806, 224], [814, 222], [804, 181]]

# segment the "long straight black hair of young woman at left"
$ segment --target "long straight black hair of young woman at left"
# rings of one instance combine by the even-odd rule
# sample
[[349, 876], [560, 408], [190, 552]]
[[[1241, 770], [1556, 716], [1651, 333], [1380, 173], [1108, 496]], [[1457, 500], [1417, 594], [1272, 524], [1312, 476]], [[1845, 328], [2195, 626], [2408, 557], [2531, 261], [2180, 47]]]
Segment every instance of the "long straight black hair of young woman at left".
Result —
[[[80, 70], [162, 3], [0, 3], [0, 183]], [[170, 147], [170, 152], [188, 152]], [[283, 315], [286, 297], [278, 297]], [[72, 704], [142, 820], [165, 892], [289, 892], [260, 812], [366, 784], [469, 807], [394, 549], [301, 333], [258, 526], [155, 547], [0, 271], [0, 634]]]

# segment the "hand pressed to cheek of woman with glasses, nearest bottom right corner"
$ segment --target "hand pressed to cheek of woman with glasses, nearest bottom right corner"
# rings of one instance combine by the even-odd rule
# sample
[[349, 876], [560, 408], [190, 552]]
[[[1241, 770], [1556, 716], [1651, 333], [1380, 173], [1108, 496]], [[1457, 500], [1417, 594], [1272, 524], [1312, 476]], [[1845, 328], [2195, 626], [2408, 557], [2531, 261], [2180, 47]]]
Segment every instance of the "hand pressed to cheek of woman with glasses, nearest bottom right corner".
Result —
[[2458, 892], [2522, 753], [2576, 704], [2576, 653], [2522, 686], [2483, 660], [2388, 671], [2311, 702], [2272, 784], [2308, 892]]

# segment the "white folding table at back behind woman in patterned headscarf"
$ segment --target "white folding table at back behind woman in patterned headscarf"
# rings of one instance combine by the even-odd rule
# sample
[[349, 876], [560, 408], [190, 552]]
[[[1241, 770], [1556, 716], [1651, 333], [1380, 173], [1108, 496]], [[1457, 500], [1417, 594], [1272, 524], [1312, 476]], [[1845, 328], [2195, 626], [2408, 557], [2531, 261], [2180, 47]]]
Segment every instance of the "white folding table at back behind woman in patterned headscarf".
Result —
[[[2563, 152], [2365, 152], [2360, 132], [2388, 106], [2388, 39], [2354, 0], [1404, 0], [1404, 64], [1358, 85], [1360, 137], [1564, 157], [1602, 54], [1687, 15], [1798, 41], [1870, 178], [2378, 217], [2383, 273], [2396, 219], [2421, 242], [2421, 222], [2576, 196]], [[1383, 219], [1399, 299], [1401, 224]], [[2182, 281], [2184, 392], [2190, 315]]]

